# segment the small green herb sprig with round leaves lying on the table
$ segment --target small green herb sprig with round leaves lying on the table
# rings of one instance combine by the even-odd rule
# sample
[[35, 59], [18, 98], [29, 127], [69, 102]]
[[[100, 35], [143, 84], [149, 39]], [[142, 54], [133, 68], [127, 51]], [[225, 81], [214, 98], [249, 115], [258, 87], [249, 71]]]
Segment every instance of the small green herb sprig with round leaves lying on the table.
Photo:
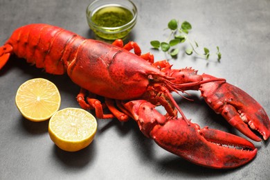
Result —
[[[171, 19], [168, 22], [168, 28], [166, 29], [170, 29], [171, 31], [168, 39], [165, 42], [160, 42], [159, 40], [151, 41], [150, 44], [153, 48], [161, 48], [162, 51], [168, 52], [172, 57], [176, 57], [179, 53], [179, 48], [177, 48], [177, 45], [187, 42], [190, 45], [190, 48], [186, 48], [187, 55], [192, 55], [192, 53], [195, 53], [206, 60], [208, 60], [210, 55], [212, 55], [210, 54], [209, 49], [206, 47], [204, 47], [204, 53], [199, 53], [198, 43], [196, 41], [192, 42], [188, 38], [188, 33], [192, 29], [192, 26], [188, 21], [183, 21], [179, 27], [179, 22], [176, 19]], [[222, 53], [219, 51], [219, 46], [217, 46], [217, 51], [215, 54], [217, 55], [217, 60], [220, 61], [222, 58]]]

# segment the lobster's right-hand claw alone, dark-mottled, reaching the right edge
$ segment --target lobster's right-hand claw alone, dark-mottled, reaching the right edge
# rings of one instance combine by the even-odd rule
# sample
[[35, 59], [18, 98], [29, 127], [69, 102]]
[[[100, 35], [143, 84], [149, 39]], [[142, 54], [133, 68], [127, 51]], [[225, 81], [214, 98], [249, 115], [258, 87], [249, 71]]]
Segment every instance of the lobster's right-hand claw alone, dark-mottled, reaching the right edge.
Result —
[[[214, 78], [203, 74], [204, 80]], [[199, 89], [206, 103], [217, 113], [238, 129], [242, 134], [253, 139], [261, 139], [253, 133], [257, 131], [264, 140], [270, 136], [270, 121], [262, 106], [248, 93], [227, 82], [208, 82]], [[252, 130], [251, 130], [252, 129]]]

